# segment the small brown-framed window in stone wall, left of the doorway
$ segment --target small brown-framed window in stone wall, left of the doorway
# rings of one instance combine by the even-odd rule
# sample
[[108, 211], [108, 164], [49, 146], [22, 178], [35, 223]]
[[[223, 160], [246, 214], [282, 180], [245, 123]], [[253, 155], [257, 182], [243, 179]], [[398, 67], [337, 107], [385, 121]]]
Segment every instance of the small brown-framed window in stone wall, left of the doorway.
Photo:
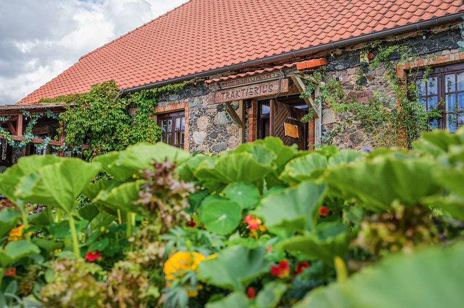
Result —
[[161, 127], [161, 142], [184, 149], [185, 112], [159, 114], [158, 125]]

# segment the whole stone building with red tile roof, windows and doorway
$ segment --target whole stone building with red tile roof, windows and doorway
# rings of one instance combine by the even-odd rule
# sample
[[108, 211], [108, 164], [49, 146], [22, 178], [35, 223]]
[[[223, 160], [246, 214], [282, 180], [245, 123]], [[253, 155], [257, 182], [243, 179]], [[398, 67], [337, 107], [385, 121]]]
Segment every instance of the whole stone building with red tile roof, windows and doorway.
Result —
[[[157, 102], [161, 141], [218, 153], [278, 136], [311, 149], [343, 115], [316, 104], [317, 87], [311, 98], [301, 98], [305, 78], [325, 69], [325, 82], [339, 80], [347, 91], [360, 87], [359, 101], [375, 91], [388, 94], [382, 65], [375, 71], [364, 65], [379, 53], [369, 44], [380, 41], [384, 47], [407, 44], [418, 55], [408, 67], [398, 63], [400, 53], [390, 55], [400, 78], [433, 57], [432, 81], [422, 82], [421, 99], [427, 108], [447, 102], [437, 123], [445, 129], [448, 105], [464, 107], [463, 15], [461, 0], [190, 0], [82, 56], [17, 104], [82, 93], [111, 79], [123, 95], [186, 81]], [[315, 115], [303, 123], [309, 110]], [[334, 144], [362, 150], [373, 140], [353, 123]]]

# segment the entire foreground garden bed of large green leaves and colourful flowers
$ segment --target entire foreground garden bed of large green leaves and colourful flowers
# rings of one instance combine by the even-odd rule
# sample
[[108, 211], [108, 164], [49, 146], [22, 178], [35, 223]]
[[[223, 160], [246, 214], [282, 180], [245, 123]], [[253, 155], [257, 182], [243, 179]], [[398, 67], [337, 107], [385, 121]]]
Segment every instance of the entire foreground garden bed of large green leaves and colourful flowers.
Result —
[[460, 307], [463, 153], [461, 129], [24, 157], [0, 176], [0, 306]]

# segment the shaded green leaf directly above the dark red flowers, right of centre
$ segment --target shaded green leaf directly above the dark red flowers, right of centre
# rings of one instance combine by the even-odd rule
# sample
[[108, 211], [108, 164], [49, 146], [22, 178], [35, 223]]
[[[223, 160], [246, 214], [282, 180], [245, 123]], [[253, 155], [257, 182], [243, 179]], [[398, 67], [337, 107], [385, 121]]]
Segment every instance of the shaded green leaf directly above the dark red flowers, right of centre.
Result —
[[316, 235], [294, 236], [280, 244], [280, 248], [292, 253], [303, 253], [326, 264], [333, 264], [334, 257], [338, 256], [345, 260], [349, 245], [348, 233], [339, 233], [326, 239], [319, 239]]

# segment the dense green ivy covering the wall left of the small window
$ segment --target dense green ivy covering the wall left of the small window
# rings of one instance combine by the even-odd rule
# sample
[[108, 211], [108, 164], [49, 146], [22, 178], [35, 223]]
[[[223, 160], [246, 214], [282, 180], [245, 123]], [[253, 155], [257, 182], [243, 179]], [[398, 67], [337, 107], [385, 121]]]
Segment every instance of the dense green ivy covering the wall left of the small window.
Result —
[[186, 83], [121, 96], [114, 80], [94, 84], [88, 93], [43, 98], [39, 103], [67, 102], [60, 114], [59, 134], [66, 145], [89, 145], [84, 158], [124, 150], [142, 141], [154, 143], [161, 134], [153, 116], [159, 93], [182, 89]]

